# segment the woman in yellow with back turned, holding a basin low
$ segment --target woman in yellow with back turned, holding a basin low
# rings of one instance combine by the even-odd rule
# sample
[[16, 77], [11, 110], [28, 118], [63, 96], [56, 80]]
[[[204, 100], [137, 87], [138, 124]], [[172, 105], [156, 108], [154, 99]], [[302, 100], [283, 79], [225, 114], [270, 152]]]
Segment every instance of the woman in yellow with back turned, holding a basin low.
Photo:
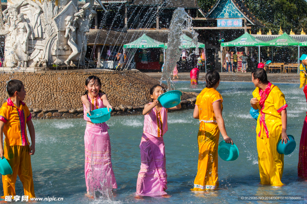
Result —
[[198, 171], [194, 181], [194, 191], [216, 189], [218, 181], [218, 146], [220, 132], [226, 143], [232, 143], [227, 136], [222, 117], [223, 98], [216, 88], [220, 84], [220, 74], [209, 71], [206, 74], [206, 88], [197, 96], [193, 117], [199, 119], [198, 131]]

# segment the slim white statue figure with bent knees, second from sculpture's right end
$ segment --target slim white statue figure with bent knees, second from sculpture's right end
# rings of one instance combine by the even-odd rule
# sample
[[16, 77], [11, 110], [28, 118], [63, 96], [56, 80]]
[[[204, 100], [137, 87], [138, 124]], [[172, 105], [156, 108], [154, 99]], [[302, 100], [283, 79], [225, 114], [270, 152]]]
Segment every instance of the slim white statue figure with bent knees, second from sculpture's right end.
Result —
[[[69, 55], [69, 57], [67, 58], [66, 61], [64, 61], [64, 63], [66, 65], [68, 65], [69, 60], [74, 59], [74, 57], [76, 57], [78, 54], [80, 54], [79, 48], [75, 42], [76, 39], [76, 28], [74, 26], [72, 26], [72, 16], [67, 16], [65, 18], [66, 21], [66, 31], [65, 31], [65, 38], [68, 37], [69, 35], [69, 39], [68, 39], [68, 45], [70, 46], [70, 48], [72, 49], [72, 54]], [[72, 61], [71, 61], [72, 62]]]

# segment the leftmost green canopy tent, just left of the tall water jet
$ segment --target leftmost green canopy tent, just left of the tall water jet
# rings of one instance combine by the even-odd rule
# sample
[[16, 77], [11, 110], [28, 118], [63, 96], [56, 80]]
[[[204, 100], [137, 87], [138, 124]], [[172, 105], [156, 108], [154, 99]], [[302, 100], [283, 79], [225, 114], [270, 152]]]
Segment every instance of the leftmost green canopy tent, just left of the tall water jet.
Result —
[[[140, 49], [146, 49], [146, 48], [163, 48], [164, 50], [164, 43], [161, 43], [157, 40], [154, 40], [150, 37], [148, 37], [145, 33], [139, 37], [138, 39], [134, 40], [131, 43], [128, 44], [124, 44], [124, 49], [127, 48], [140, 48]], [[163, 52], [164, 55], [165, 52]], [[126, 66], [128, 67], [130, 65], [130, 61], [129, 64]]]

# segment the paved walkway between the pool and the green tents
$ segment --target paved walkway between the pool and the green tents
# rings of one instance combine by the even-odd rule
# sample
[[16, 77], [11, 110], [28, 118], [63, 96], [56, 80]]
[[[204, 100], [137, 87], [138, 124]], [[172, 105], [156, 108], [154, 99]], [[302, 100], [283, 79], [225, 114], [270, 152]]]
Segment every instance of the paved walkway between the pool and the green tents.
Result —
[[[161, 79], [161, 72], [151, 72], [145, 73], [148, 76], [151, 76], [157, 80]], [[200, 72], [198, 80], [205, 80], [206, 73]], [[173, 76], [173, 75], [172, 75]], [[180, 81], [190, 81], [190, 73], [189, 72], [181, 72], [178, 73]], [[280, 74], [280, 73], [268, 73], [268, 80], [272, 83], [300, 83], [300, 76], [298, 74]], [[243, 81], [243, 82], [251, 82], [251, 72], [247, 73], [220, 73], [221, 81]]]

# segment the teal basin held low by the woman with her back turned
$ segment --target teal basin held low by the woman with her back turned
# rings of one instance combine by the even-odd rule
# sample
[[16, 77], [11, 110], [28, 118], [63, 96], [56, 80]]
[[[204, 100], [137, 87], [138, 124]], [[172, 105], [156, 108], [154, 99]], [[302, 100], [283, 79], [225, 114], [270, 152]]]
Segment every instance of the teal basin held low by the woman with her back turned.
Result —
[[224, 161], [234, 161], [239, 157], [239, 149], [235, 144], [231, 145], [223, 140], [219, 144], [218, 154]]

